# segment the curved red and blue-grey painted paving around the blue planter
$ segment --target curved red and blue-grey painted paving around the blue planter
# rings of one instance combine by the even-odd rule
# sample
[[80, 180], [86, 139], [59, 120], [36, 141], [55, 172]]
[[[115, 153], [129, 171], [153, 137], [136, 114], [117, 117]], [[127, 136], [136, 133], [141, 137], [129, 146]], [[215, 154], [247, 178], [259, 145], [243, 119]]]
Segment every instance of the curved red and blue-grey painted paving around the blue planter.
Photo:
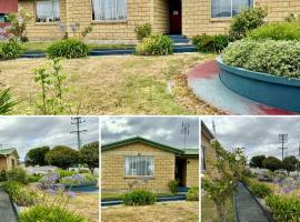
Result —
[[219, 78], [219, 68], [214, 60], [193, 67], [188, 74], [188, 82], [197, 97], [230, 114], [294, 114], [254, 102], [229, 90]]

